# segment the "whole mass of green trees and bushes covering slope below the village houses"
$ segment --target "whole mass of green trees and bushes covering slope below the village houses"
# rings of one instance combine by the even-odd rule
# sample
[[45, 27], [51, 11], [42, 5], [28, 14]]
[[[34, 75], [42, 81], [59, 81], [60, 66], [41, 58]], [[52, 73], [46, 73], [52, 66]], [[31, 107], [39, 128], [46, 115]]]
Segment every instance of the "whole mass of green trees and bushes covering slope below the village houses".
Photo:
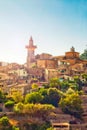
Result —
[[[82, 79], [87, 82], [87, 74], [82, 74]], [[50, 79], [48, 84], [44, 84], [39, 88], [36, 83], [31, 85], [31, 91], [26, 95], [13, 92], [11, 97], [4, 95], [0, 91], [0, 101], [6, 108], [17, 115], [26, 115], [44, 120], [43, 125], [36, 122], [24, 124], [24, 128], [31, 130], [53, 130], [49, 123], [49, 115], [54, 111], [55, 107], [60, 107], [64, 113], [71, 114], [76, 118], [81, 118], [83, 109], [80, 95], [82, 91], [83, 81], [78, 76], [74, 76], [73, 80], [58, 78]], [[6, 109], [7, 110], [7, 109]], [[48, 124], [47, 124], [48, 121]], [[7, 117], [0, 118], [0, 130], [19, 130], [10, 124]]]

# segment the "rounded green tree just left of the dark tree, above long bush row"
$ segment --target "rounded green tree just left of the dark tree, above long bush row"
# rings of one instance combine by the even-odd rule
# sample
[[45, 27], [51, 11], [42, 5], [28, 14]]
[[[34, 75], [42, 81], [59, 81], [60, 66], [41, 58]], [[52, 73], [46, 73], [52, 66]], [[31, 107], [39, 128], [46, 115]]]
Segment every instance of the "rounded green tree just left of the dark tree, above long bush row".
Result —
[[43, 99], [43, 96], [39, 92], [32, 92], [26, 94], [25, 103], [40, 103]]

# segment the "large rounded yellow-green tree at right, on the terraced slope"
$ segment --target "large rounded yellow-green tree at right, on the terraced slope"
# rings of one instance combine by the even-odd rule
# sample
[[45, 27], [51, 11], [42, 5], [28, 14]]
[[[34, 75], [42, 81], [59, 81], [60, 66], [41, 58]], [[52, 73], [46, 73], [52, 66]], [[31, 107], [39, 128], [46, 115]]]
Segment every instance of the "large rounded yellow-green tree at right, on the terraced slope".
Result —
[[74, 115], [75, 117], [81, 117], [83, 109], [81, 105], [82, 101], [78, 93], [66, 94], [66, 97], [61, 98], [59, 105], [63, 112]]

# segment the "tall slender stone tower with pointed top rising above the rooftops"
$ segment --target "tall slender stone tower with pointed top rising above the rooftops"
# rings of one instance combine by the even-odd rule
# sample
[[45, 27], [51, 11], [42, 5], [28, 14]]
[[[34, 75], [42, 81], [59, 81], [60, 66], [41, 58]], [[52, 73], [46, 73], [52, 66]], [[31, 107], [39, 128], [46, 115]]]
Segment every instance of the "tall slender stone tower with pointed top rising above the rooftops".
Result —
[[29, 45], [26, 46], [27, 48], [27, 68], [31, 67], [31, 64], [35, 62], [35, 49], [37, 46], [33, 44], [33, 39], [30, 37]]

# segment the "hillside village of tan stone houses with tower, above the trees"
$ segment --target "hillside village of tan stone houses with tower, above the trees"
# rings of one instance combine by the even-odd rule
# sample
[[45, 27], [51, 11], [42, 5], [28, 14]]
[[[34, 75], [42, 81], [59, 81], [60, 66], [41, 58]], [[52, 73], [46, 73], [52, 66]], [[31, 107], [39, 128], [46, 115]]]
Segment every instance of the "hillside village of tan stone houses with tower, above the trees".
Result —
[[29, 84], [37, 82], [39, 86], [51, 78], [72, 79], [74, 75], [87, 73], [87, 60], [81, 60], [74, 47], [64, 56], [52, 56], [42, 53], [35, 55], [37, 48], [30, 37], [27, 48], [27, 61], [17, 63], [0, 63], [0, 87], [5, 93], [29, 92]]

